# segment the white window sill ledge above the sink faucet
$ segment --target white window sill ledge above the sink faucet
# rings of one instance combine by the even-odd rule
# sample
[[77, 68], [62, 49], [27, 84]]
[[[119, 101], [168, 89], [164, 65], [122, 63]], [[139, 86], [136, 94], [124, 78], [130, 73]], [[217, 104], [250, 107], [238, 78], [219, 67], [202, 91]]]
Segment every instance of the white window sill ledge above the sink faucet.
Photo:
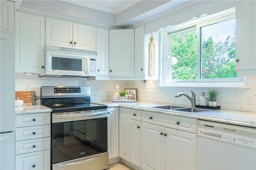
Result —
[[251, 88], [245, 82], [172, 82], [160, 87], [194, 87], [194, 88]]

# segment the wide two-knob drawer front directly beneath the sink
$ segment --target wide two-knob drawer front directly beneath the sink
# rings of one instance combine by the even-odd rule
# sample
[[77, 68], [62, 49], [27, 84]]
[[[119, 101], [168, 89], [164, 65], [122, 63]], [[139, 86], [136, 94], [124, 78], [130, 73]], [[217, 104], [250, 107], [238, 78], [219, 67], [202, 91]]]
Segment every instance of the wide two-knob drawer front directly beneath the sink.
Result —
[[160, 125], [181, 131], [197, 133], [197, 119], [173, 116], [155, 112], [141, 111], [142, 122]]

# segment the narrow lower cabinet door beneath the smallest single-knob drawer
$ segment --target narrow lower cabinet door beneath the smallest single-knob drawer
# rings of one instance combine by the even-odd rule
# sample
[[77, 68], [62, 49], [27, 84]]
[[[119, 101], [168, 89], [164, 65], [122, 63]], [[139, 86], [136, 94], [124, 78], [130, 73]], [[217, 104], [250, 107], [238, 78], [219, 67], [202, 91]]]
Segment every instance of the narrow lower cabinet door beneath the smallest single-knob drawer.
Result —
[[131, 120], [131, 162], [141, 167], [141, 122]]

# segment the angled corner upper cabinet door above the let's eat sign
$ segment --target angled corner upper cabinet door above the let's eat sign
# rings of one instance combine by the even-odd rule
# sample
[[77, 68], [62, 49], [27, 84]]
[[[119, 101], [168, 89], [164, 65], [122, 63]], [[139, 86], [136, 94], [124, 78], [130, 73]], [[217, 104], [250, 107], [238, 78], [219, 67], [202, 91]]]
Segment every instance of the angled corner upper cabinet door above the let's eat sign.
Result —
[[110, 30], [110, 76], [134, 75], [134, 29]]

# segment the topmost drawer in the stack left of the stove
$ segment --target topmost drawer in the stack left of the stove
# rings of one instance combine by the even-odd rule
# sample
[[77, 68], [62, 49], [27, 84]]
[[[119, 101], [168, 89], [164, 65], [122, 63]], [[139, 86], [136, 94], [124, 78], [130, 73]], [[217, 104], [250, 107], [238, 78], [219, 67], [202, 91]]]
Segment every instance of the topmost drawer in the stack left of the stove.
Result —
[[28, 127], [37, 125], [50, 125], [51, 114], [50, 113], [38, 113], [38, 114], [20, 114], [16, 115], [15, 126]]

